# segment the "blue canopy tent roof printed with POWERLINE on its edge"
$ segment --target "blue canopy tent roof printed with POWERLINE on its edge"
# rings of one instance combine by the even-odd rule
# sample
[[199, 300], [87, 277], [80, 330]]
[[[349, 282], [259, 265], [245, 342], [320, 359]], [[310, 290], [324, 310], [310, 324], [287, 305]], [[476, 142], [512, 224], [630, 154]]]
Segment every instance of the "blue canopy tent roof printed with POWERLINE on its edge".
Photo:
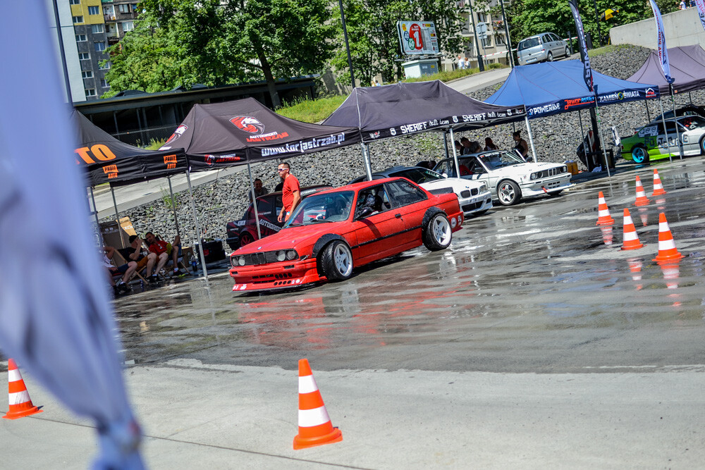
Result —
[[[580, 60], [516, 66], [504, 85], [486, 101], [492, 104], [524, 103], [529, 118], [595, 106], [594, 95], [583, 79]], [[656, 85], [620, 80], [592, 71], [599, 105], [658, 97]]]

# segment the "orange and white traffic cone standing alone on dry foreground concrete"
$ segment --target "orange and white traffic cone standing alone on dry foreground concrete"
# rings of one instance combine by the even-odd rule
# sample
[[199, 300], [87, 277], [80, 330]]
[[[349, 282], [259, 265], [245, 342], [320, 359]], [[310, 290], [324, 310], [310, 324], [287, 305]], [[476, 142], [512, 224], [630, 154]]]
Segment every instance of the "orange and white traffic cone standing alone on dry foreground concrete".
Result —
[[300, 359], [299, 433], [294, 438], [294, 450], [339, 443], [341, 440], [343, 440], [343, 433], [340, 429], [333, 428], [308, 359]]

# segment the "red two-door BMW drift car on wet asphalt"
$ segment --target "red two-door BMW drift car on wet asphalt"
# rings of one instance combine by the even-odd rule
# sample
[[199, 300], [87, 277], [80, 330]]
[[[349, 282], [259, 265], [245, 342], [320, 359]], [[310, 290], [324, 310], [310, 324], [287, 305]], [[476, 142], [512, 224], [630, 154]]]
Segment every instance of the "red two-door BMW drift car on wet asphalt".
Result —
[[422, 244], [447, 248], [462, 221], [455, 193], [435, 196], [405, 178], [312, 194], [278, 233], [231, 254], [233, 291], [345, 280], [353, 266]]

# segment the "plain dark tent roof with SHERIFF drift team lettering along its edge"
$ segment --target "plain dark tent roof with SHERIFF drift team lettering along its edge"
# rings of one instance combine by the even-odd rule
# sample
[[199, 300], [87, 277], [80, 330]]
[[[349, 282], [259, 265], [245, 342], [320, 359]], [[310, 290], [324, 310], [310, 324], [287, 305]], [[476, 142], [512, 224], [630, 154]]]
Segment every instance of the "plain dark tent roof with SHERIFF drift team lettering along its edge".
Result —
[[450, 126], [484, 128], [523, 119], [525, 112], [522, 104], [486, 104], [434, 80], [357, 87], [323, 123], [359, 127], [362, 140], [372, 142]]

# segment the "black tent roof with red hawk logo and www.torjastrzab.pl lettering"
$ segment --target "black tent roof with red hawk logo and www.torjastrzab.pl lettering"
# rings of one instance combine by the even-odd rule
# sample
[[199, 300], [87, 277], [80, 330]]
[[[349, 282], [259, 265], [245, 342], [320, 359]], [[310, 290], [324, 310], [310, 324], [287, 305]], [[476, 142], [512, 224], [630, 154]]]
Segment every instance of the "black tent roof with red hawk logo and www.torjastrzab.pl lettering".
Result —
[[186, 149], [192, 171], [289, 158], [360, 143], [353, 126], [302, 123], [254, 98], [195, 104], [160, 150]]

